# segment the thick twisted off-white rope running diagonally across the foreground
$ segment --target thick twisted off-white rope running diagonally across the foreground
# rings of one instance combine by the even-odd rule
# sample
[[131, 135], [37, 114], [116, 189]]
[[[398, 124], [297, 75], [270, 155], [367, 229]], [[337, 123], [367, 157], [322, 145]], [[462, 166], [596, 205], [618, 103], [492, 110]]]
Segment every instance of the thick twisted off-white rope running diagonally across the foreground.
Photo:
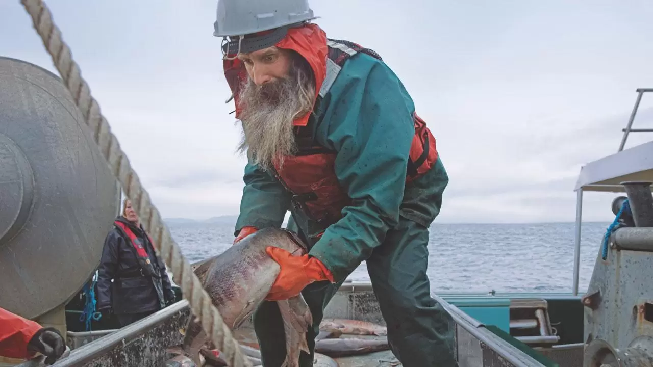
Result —
[[84, 122], [91, 129], [97, 148], [104, 155], [114, 177], [121, 183], [125, 195], [131, 199], [143, 226], [152, 236], [157, 253], [172, 272], [174, 282], [180, 285], [193, 314], [199, 317], [204, 332], [224, 355], [223, 358], [229, 366], [251, 367], [251, 362], [241, 353], [231, 330], [225, 325], [210, 296], [191, 270], [191, 264], [183, 257], [179, 246], [172, 239], [159, 211], [151, 204], [150, 195], [140, 185], [138, 175], [129, 165], [127, 155], [120, 149], [118, 139], [111, 133], [109, 123], [102, 116], [99, 104], [91, 96], [79, 66], [72, 60], [71, 50], [63, 42], [61, 31], [54, 24], [50, 10], [42, 0], [21, 0], [21, 3], [31, 16], [34, 28], [52, 56], [52, 61], [71, 92], [74, 103], [82, 112]]

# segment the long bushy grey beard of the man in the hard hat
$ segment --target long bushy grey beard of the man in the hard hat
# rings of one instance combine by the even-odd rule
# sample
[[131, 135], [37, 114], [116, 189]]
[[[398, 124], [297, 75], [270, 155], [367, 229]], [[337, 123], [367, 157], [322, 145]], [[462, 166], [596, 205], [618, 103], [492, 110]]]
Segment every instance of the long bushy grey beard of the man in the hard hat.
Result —
[[263, 170], [270, 170], [275, 160], [283, 166], [284, 157], [296, 152], [293, 121], [313, 108], [314, 97], [313, 78], [301, 67], [293, 66], [287, 78], [263, 86], [247, 78], [239, 94], [243, 136], [238, 152], [247, 152]]

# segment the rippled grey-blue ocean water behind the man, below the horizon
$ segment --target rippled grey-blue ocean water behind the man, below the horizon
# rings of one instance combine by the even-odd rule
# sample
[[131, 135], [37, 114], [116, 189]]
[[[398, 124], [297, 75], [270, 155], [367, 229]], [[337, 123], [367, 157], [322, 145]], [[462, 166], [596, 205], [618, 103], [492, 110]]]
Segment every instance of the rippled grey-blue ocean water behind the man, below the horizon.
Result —
[[[579, 292], [587, 289], [609, 223], [583, 223]], [[174, 240], [193, 263], [222, 253], [233, 223], [170, 223]], [[434, 224], [428, 278], [435, 292], [571, 292], [574, 223]], [[349, 276], [369, 281], [362, 263]]]

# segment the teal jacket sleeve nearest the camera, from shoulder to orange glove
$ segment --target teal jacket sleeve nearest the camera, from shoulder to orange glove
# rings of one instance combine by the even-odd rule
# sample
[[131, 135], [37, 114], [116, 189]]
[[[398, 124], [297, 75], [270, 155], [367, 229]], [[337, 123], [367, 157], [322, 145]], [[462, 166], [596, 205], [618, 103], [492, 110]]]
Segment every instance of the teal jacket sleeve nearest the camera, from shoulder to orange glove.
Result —
[[327, 136], [323, 143], [338, 152], [336, 176], [353, 204], [310, 255], [338, 282], [398, 223], [415, 125], [406, 89], [389, 67], [370, 56], [349, 59], [329, 93], [317, 136]]

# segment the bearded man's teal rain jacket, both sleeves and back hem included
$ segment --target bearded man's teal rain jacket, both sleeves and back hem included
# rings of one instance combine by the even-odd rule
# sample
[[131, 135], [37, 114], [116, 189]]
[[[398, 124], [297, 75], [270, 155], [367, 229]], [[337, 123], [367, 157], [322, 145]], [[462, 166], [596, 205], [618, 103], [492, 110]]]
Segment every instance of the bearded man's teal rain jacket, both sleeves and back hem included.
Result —
[[[323, 42], [321, 35], [309, 40]], [[310, 255], [338, 282], [370, 257], [400, 215], [428, 227], [438, 215], [448, 177], [438, 158], [426, 174], [406, 183], [415, 106], [383, 61], [362, 52], [350, 57], [323, 101], [314, 111], [313, 136], [337, 152], [335, 174], [352, 204], [342, 209], [342, 219], [328, 223]], [[288, 210], [306, 238], [324, 230], [291, 206], [291, 193], [272, 172], [250, 161], [244, 182], [236, 234], [246, 226], [281, 227]]]

